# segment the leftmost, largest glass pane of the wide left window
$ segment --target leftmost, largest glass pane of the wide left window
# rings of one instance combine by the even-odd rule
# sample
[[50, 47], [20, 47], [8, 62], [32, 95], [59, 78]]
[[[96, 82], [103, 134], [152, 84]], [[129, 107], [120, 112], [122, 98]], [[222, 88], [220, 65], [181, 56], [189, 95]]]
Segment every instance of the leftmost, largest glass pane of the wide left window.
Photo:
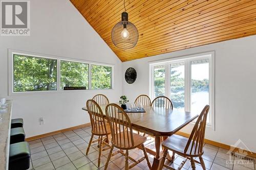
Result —
[[57, 60], [13, 55], [13, 91], [57, 90]]

